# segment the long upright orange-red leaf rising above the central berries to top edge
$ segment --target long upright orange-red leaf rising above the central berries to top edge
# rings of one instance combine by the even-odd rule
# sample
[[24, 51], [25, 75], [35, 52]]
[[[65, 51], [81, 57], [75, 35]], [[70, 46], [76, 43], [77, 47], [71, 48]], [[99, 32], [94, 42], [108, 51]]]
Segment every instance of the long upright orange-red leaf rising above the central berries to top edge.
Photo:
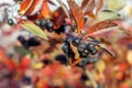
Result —
[[68, 6], [77, 24], [77, 33], [80, 34], [81, 29], [84, 28], [84, 13], [81, 8], [75, 1], [68, 1]]

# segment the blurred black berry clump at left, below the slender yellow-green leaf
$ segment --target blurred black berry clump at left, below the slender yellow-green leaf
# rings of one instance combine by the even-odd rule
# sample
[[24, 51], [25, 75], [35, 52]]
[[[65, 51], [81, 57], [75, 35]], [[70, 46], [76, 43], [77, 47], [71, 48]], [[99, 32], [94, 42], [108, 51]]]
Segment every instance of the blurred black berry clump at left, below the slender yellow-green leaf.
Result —
[[24, 36], [20, 35], [20, 36], [18, 37], [18, 40], [19, 40], [19, 41], [21, 42], [21, 44], [22, 44], [24, 47], [26, 47], [26, 48], [29, 48], [29, 47], [31, 47], [31, 46], [37, 46], [37, 45], [41, 44], [40, 41], [36, 40], [35, 37], [30, 37], [29, 40], [25, 40]]

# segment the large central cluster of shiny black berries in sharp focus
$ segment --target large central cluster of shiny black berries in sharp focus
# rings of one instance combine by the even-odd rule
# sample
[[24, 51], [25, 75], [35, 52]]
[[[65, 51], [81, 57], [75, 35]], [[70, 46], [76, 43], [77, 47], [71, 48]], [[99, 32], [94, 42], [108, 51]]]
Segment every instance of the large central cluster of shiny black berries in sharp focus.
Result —
[[64, 44], [62, 45], [62, 50], [68, 56], [74, 54], [70, 47], [70, 43], [77, 47], [79, 57], [81, 57], [82, 59], [87, 58], [87, 63], [94, 63], [97, 61], [96, 58], [89, 57], [90, 55], [96, 55], [98, 53], [96, 45], [92, 42], [81, 41], [80, 37], [66, 37]]

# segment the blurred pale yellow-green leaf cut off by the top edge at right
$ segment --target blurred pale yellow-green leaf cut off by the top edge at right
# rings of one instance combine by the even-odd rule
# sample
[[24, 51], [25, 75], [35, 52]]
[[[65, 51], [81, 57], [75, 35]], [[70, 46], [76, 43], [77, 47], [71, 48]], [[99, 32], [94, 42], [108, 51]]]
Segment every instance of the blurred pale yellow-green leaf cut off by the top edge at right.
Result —
[[127, 4], [127, 0], [109, 0], [108, 1], [108, 8], [110, 10], [121, 10], [122, 8], [124, 8], [124, 6]]

